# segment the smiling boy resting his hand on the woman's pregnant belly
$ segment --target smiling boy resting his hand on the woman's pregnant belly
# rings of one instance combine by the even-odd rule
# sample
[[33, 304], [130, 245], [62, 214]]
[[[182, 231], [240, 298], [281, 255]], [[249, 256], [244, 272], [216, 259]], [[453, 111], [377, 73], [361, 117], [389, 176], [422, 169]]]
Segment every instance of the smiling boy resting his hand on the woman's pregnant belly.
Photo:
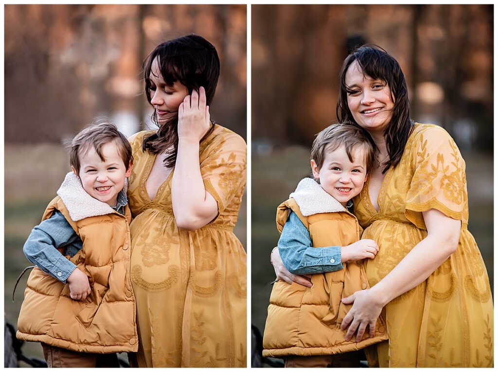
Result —
[[353, 124], [330, 125], [313, 142], [311, 168], [320, 183], [301, 180], [277, 209], [282, 262], [292, 273], [314, 274], [313, 285], [274, 284], [264, 357], [283, 358], [285, 367], [360, 367], [355, 351], [387, 339], [380, 318], [374, 336], [358, 343], [346, 341], [340, 329], [352, 307], [341, 299], [369, 288], [361, 260], [378, 251], [373, 240], [360, 240], [361, 227], [347, 209], [367, 180], [373, 156], [372, 144]]

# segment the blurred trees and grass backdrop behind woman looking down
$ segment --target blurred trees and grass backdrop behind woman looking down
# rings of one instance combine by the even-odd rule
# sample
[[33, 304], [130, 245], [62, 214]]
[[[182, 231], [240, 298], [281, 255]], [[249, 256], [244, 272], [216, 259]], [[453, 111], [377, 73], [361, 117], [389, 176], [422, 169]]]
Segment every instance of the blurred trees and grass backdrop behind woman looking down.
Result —
[[[22, 246], [70, 170], [62, 142], [96, 117], [130, 135], [155, 125], [142, 62], [168, 39], [215, 45], [221, 75], [211, 118], [247, 138], [247, 10], [240, 5], [4, 6], [4, 308], [16, 325], [30, 263]], [[236, 234], [246, 247], [246, 196]], [[43, 358], [39, 344], [24, 352]]]

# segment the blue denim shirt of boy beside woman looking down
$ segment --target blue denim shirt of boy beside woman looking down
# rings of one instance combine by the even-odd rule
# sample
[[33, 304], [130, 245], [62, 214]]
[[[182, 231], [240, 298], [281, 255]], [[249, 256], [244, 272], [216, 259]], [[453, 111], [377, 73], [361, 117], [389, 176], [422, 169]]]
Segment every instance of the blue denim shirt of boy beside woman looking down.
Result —
[[[113, 209], [124, 214], [127, 203], [126, 194], [121, 190], [116, 207]], [[31, 230], [22, 250], [29, 262], [66, 283], [76, 265], [64, 257], [57, 248], [64, 248], [65, 255], [72, 257], [83, 248], [83, 242], [62, 213], [56, 210], [49, 219]]]

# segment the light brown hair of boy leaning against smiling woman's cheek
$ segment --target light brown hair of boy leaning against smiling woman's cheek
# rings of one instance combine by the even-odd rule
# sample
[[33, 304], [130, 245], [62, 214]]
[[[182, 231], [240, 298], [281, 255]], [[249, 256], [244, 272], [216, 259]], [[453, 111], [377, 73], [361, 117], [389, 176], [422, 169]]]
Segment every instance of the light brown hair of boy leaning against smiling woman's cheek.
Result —
[[344, 146], [349, 160], [353, 162], [351, 151], [357, 146], [363, 146], [367, 172], [369, 172], [375, 155], [372, 142], [367, 135], [360, 126], [349, 122], [329, 125], [316, 135], [311, 146], [310, 158], [315, 161], [318, 169], [321, 169], [325, 151], [334, 151], [339, 146]]

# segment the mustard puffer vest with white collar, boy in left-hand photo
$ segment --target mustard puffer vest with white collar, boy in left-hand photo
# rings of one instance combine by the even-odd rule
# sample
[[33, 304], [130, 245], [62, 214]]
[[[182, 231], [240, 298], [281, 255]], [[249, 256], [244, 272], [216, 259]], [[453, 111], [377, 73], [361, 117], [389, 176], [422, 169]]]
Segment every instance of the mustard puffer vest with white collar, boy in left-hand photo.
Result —
[[87, 194], [72, 172], [66, 175], [42, 220], [60, 211], [83, 241], [71, 262], [87, 274], [86, 300], [69, 296], [69, 284], [39, 268], [29, 275], [16, 337], [84, 353], [136, 352], [135, 297], [129, 277], [131, 214], [121, 215]]

